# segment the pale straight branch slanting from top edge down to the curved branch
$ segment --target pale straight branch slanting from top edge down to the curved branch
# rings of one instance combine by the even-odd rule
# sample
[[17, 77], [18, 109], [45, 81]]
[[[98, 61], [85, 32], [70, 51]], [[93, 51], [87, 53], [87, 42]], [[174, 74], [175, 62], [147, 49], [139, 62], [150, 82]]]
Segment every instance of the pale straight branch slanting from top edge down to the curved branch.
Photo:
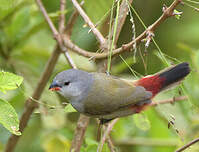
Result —
[[74, 7], [77, 9], [77, 11], [79, 12], [79, 14], [82, 16], [82, 18], [84, 19], [84, 21], [86, 22], [86, 24], [88, 24], [88, 26], [91, 28], [93, 34], [96, 36], [97, 40], [100, 43], [100, 46], [106, 47], [104, 46], [106, 43], [106, 39], [103, 37], [103, 35], [99, 32], [99, 30], [95, 27], [95, 25], [93, 24], [93, 22], [90, 20], [90, 18], [87, 16], [87, 14], [84, 12], [84, 10], [81, 8], [81, 6], [79, 5], [79, 3], [76, 0], [71, 0]]

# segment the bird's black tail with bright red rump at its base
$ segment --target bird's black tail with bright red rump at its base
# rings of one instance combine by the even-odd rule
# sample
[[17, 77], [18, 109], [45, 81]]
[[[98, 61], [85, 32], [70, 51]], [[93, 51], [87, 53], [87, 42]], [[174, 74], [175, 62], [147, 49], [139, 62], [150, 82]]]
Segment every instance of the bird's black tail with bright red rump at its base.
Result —
[[184, 62], [169, 67], [152, 76], [144, 77], [136, 83], [151, 91], [153, 96], [158, 92], [179, 84], [190, 73], [189, 64]]

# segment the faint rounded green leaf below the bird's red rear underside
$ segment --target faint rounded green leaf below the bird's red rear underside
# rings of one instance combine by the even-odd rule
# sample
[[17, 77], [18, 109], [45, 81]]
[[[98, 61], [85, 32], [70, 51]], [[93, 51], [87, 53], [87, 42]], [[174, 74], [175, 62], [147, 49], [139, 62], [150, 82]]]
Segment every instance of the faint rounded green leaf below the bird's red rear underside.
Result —
[[146, 131], [151, 128], [149, 119], [143, 113], [135, 114], [133, 116], [133, 120], [134, 120], [135, 125], [141, 130]]

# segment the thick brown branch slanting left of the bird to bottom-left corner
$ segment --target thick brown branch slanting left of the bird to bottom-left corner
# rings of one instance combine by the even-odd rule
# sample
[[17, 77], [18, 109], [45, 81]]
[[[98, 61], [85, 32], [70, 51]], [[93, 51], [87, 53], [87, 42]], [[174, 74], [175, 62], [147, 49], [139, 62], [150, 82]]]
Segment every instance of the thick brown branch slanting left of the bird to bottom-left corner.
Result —
[[[45, 70], [39, 79], [36, 89], [34, 90], [34, 93], [32, 95], [33, 99], [39, 100], [39, 98], [41, 97], [41, 94], [52, 74], [55, 64], [57, 63], [60, 53], [61, 52], [59, 51], [58, 47], [56, 47], [51, 57], [49, 58], [48, 63], [46, 64]], [[19, 123], [19, 128], [21, 132], [23, 132], [23, 130], [27, 126], [31, 114], [33, 113], [34, 109], [38, 106], [38, 103], [33, 102], [30, 98], [27, 99], [25, 103], [25, 110], [21, 116]], [[20, 137], [21, 136], [11, 135], [8, 139], [5, 152], [13, 152]]]

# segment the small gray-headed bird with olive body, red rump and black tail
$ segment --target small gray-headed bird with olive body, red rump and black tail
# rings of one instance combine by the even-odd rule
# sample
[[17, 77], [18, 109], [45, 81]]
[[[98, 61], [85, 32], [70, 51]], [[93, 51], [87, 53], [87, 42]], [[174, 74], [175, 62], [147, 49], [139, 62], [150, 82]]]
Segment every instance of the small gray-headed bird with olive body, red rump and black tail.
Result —
[[69, 69], [58, 73], [49, 89], [68, 99], [78, 112], [99, 118], [103, 124], [139, 113], [155, 95], [179, 84], [189, 73], [186, 62], [135, 81]]

